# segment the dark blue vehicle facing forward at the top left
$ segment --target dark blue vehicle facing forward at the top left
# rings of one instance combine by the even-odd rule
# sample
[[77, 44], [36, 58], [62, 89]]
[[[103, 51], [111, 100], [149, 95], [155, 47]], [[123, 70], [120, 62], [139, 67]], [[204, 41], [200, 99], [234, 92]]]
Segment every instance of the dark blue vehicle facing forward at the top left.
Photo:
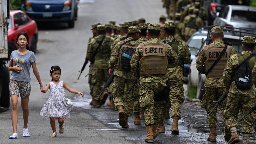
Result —
[[73, 28], [78, 13], [78, 0], [27, 0], [26, 13], [35, 21], [68, 22]]

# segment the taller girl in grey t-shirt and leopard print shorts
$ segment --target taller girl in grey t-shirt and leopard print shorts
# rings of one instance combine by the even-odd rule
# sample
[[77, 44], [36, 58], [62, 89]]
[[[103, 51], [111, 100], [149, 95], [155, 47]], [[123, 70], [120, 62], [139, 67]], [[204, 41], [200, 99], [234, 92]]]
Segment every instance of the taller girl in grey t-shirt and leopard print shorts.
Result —
[[17, 139], [17, 123], [18, 123], [18, 98], [21, 97], [21, 108], [23, 111], [23, 137], [30, 137], [28, 132], [28, 100], [30, 95], [30, 73], [29, 69], [32, 65], [33, 72], [43, 92], [43, 85], [36, 67], [36, 57], [32, 51], [29, 51], [28, 34], [21, 32], [17, 35], [16, 43], [18, 50], [11, 53], [9, 71], [12, 71], [9, 89], [12, 100], [12, 128], [13, 134], [9, 139]]

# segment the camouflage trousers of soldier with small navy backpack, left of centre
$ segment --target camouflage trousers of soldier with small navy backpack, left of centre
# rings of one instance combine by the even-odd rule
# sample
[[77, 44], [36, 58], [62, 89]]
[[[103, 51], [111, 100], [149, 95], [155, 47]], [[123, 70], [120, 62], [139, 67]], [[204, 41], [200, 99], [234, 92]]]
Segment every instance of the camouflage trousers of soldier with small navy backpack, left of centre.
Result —
[[113, 89], [112, 89], [112, 96], [115, 103], [115, 107], [118, 105], [122, 105], [124, 107], [124, 112], [128, 115], [132, 115], [132, 110], [134, 106], [134, 101], [136, 97], [139, 96], [138, 91], [131, 91], [129, 94], [126, 93], [126, 96], [124, 98], [124, 88], [125, 85], [127, 87], [127, 90], [129, 90], [133, 82], [132, 80], [124, 79], [119, 76], [114, 76], [113, 81]]

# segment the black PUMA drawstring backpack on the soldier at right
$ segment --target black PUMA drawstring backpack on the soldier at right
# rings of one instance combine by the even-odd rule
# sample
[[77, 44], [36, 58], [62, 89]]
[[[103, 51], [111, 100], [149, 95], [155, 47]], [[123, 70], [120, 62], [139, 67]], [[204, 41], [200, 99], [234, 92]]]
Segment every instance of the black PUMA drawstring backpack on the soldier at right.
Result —
[[251, 54], [247, 59], [245, 59], [238, 67], [237, 78], [235, 80], [237, 88], [241, 90], [248, 90], [252, 87], [252, 69], [249, 65], [249, 60], [255, 56]]

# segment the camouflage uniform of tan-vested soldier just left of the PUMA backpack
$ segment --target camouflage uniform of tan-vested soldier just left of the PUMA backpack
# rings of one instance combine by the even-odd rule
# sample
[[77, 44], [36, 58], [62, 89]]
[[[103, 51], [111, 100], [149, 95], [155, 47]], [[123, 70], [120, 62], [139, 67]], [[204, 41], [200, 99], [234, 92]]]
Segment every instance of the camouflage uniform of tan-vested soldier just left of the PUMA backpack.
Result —
[[[213, 27], [211, 30], [213, 33], [221, 33], [223, 32], [223, 28], [220, 26]], [[223, 46], [224, 43], [221, 40], [215, 40], [212, 43], [214, 46]], [[208, 46], [208, 45], [207, 45]], [[205, 46], [205, 47], [207, 47]], [[204, 67], [204, 63], [206, 62], [206, 52], [205, 47], [199, 52], [198, 58], [196, 60], [196, 68], [201, 74], [205, 74], [206, 70]], [[236, 54], [236, 50], [232, 47], [230, 51], [230, 56]], [[222, 78], [206, 78], [205, 80], [205, 94], [201, 100], [201, 107], [206, 109], [207, 112], [207, 119], [209, 126], [216, 126], [217, 123], [217, 109], [215, 109], [211, 115], [208, 115], [210, 111], [214, 108], [215, 104], [214, 101], [218, 101], [218, 99], [224, 93], [224, 84]], [[226, 107], [227, 101], [224, 100], [222, 104], [219, 105], [220, 110], [223, 112]]]

